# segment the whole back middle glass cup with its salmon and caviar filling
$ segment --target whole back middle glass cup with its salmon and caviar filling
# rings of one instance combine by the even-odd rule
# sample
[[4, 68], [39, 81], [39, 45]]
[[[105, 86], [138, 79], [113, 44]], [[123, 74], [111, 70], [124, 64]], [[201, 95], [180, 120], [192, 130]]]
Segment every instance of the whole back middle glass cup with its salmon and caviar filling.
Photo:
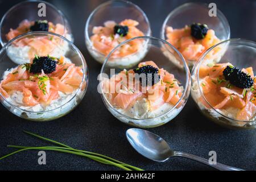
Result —
[[[147, 16], [137, 5], [128, 1], [102, 3], [90, 14], [85, 25], [86, 47], [93, 58], [101, 64], [119, 43], [143, 35], [151, 35]], [[143, 43], [140, 49], [127, 45], [121, 52], [112, 56], [112, 61], [108, 64], [111, 67], [132, 67], [146, 52], [147, 42]], [[134, 59], [134, 55], [137, 60]], [[133, 62], [130, 57], [133, 57]]]

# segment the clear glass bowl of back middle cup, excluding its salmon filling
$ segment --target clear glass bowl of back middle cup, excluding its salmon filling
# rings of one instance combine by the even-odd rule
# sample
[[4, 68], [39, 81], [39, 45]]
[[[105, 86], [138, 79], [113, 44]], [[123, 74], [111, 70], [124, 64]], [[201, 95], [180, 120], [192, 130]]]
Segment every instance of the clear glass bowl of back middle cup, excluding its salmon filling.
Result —
[[[105, 57], [108, 55], [108, 53], [101, 53], [93, 46], [93, 43], [90, 40], [90, 37], [93, 35], [93, 27], [104, 26], [104, 23], [109, 20], [119, 23], [125, 19], [136, 20], [139, 23], [137, 28], [142, 31], [144, 35], [151, 35], [150, 23], [148, 22], [146, 14], [144, 14], [144, 12], [137, 5], [134, 5], [134, 3], [128, 1], [115, 0], [102, 3], [90, 14], [89, 18], [87, 19], [85, 25], [86, 47], [93, 58], [99, 63], [104, 63]], [[146, 43], [143, 47], [145, 47], [143, 51], [135, 52], [133, 55], [139, 54], [140, 57], [143, 57], [147, 51]], [[122, 56], [122, 60], [120, 57], [113, 57], [112, 61], [108, 64], [112, 67], [123, 67], [124, 64], [126, 66], [127, 63], [123, 62], [129, 60], [129, 56], [131, 56], [131, 54]], [[137, 63], [138, 62], [139, 60], [137, 60]], [[131, 66], [137, 63], [131, 63]]]

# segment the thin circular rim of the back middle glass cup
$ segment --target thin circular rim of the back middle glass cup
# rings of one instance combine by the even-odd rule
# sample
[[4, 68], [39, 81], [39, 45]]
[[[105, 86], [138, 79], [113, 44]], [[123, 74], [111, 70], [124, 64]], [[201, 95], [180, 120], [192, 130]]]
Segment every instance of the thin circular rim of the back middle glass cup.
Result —
[[[96, 9], [94, 9], [92, 11], [92, 13], [90, 13], [88, 19], [86, 20], [86, 24], [85, 24], [85, 39], [86, 39], [86, 42], [89, 43], [90, 46], [92, 46], [92, 42], [90, 41], [90, 37], [89, 37], [89, 32], [88, 32], [88, 29], [89, 29], [89, 21], [90, 19], [92, 18], [92, 16], [94, 15], [94, 13], [99, 10], [101, 7], [105, 6], [106, 4], [110, 3], [110, 2], [123, 2], [123, 3], [127, 3], [127, 4], [130, 4], [130, 5], [133, 5], [135, 6], [142, 14], [143, 14], [143, 17], [145, 18], [147, 24], [148, 24], [148, 32], [147, 32], [147, 35], [146, 36], [150, 36], [151, 35], [151, 27], [150, 27], [150, 22], [147, 18], [147, 15], [144, 13], [144, 11], [138, 6], [138, 5], [135, 5], [134, 3], [130, 2], [130, 1], [125, 1], [125, 0], [110, 0], [110, 1], [106, 1], [104, 3], [102, 3], [101, 5], [97, 6]], [[94, 51], [96, 51], [99, 55], [101, 56], [107, 56], [105, 55], [104, 53], [101, 53], [100, 51], [98, 51], [97, 49], [93, 49]], [[127, 56], [123, 56], [122, 58], [125, 58], [125, 57], [128, 57], [128, 56], [131, 56], [133, 54], [135, 54], [137, 52], [134, 52], [134, 53], [131, 53], [130, 55], [127, 55]], [[118, 57], [119, 58], [119, 57]]]

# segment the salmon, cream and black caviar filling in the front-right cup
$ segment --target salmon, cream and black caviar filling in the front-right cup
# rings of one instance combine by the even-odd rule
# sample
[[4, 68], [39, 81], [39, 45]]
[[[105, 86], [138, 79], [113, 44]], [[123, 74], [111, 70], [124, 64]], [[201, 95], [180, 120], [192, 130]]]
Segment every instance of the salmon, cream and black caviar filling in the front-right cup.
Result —
[[203, 97], [198, 94], [199, 90], [193, 89], [195, 85], [192, 97], [212, 117], [220, 117], [214, 113], [217, 110], [238, 121], [256, 119], [256, 82], [252, 67], [238, 69], [230, 63], [201, 65], [198, 83]]

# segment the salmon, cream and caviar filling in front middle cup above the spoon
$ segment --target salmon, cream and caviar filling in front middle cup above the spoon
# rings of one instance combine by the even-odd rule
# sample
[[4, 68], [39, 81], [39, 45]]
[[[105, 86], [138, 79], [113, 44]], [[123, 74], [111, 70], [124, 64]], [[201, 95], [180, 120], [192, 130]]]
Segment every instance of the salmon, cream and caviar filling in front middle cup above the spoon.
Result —
[[[110, 104], [120, 113], [137, 119], [155, 118], [167, 113], [183, 94], [183, 86], [175, 76], [159, 68], [153, 61], [139, 63], [135, 69], [124, 69], [106, 78], [103, 85]], [[177, 106], [174, 112], [179, 113], [180, 109]], [[170, 120], [168, 117], [166, 119]], [[151, 125], [158, 123], [156, 119]]]

